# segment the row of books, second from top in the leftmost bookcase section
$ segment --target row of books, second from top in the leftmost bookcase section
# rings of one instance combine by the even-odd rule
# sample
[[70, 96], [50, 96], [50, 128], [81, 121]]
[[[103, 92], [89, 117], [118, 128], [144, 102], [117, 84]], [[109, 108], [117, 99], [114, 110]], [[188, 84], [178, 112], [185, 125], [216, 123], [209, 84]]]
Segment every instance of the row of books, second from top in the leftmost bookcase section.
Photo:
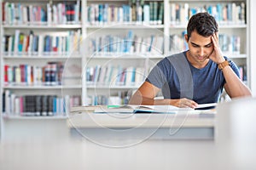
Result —
[[30, 31], [28, 35], [15, 30], [14, 35], [3, 36], [3, 53], [7, 55], [47, 55], [79, 53], [81, 32], [67, 31], [55, 35], [35, 34]]

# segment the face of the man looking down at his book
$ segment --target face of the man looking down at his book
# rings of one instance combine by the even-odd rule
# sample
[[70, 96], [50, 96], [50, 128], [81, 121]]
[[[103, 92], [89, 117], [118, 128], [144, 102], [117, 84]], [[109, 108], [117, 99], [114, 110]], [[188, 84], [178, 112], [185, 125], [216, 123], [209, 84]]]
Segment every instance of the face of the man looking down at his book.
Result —
[[207, 61], [213, 50], [211, 36], [202, 37], [197, 31], [193, 31], [189, 40], [187, 35], [185, 38], [189, 44], [189, 59], [193, 59], [196, 63]]

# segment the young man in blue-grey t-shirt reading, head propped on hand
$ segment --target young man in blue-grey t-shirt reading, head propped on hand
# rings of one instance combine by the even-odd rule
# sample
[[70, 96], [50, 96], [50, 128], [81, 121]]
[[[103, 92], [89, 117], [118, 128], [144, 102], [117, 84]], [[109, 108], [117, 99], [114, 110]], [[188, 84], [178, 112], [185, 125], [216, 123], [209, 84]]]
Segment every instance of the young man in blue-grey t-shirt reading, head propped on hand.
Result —
[[[185, 39], [189, 50], [161, 59], [131, 96], [131, 105], [195, 108], [198, 104], [217, 103], [223, 88], [230, 98], [252, 95], [241, 82], [236, 64], [222, 55], [218, 24], [212, 15], [193, 15]], [[164, 99], [154, 99], [160, 90]]]

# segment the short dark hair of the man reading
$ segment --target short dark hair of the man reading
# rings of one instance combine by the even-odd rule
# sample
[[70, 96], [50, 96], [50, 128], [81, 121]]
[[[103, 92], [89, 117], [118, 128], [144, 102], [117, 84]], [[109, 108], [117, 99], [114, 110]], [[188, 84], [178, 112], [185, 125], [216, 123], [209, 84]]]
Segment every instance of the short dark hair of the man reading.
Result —
[[209, 37], [213, 33], [218, 32], [218, 24], [211, 14], [207, 12], [197, 13], [189, 19], [187, 26], [188, 39], [192, 31], [197, 31], [203, 37]]

